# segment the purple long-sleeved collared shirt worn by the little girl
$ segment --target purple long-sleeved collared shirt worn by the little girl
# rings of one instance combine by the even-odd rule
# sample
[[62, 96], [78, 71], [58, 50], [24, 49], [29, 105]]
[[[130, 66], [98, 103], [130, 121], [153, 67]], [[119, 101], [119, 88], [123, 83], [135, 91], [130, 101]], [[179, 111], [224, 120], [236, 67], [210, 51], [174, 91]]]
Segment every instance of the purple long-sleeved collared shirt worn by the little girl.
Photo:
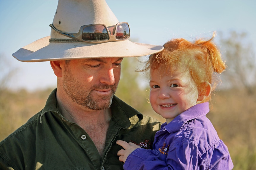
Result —
[[153, 150], [134, 150], [124, 169], [232, 169], [227, 146], [206, 118], [208, 112], [209, 103], [200, 103], [162, 124]]

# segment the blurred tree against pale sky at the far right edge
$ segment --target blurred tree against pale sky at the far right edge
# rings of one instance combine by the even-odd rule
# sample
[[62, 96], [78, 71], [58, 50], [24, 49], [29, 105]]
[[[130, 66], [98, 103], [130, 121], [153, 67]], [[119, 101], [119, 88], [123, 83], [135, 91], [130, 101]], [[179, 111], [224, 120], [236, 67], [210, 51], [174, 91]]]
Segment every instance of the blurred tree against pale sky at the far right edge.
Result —
[[252, 43], [248, 43], [247, 33], [231, 31], [227, 38], [220, 35], [222, 55], [226, 59], [227, 69], [223, 72], [223, 78], [229, 86], [245, 88], [248, 94], [254, 92], [256, 84], [255, 54]]

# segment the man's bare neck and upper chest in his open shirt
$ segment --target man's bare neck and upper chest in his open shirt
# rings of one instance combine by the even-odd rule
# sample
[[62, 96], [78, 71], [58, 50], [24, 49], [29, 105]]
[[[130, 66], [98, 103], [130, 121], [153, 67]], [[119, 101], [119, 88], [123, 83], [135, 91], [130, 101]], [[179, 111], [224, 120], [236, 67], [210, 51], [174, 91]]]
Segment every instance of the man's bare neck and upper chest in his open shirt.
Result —
[[[64, 100], [62, 100], [64, 99]], [[110, 119], [112, 117], [110, 108], [104, 110], [90, 110], [76, 105], [73, 101], [58, 98], [58, 110], [67, 120], [78, 124], [90, 136], [100, 156], [102, 156]]]

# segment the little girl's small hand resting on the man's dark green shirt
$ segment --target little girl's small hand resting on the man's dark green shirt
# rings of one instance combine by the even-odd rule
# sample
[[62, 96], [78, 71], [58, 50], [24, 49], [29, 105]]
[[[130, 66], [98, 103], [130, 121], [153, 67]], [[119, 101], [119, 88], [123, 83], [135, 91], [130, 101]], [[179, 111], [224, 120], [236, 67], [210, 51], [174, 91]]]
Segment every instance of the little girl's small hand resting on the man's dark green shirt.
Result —
[[127, 157], [137, 148], [140, 148], [138, 145], [132, 142], [125, 142], [123, 140], [116, 141], [116, 144], [122, 146], [124, 149], [118, 151], [117, 156], [119, 156], [119, 161], [125, 162]]

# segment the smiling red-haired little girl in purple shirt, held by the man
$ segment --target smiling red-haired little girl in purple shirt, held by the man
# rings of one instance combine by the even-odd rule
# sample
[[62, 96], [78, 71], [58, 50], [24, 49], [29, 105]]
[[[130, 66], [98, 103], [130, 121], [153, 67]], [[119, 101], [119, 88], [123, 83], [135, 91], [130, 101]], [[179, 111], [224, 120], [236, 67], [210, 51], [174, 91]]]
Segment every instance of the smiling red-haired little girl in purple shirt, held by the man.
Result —
[[216, 75], [226, 67], [212, 42], [214, 35], [193, 43], [172, 39], [163, 51], [151, 54], [143, 70], [150, 70], [149, 99], [166, 122], [155, 135], [153, 150], [116, 142], [124, 148], [117, 153], [124, 169], [233, 168], [227, 146], [206, 118]]

